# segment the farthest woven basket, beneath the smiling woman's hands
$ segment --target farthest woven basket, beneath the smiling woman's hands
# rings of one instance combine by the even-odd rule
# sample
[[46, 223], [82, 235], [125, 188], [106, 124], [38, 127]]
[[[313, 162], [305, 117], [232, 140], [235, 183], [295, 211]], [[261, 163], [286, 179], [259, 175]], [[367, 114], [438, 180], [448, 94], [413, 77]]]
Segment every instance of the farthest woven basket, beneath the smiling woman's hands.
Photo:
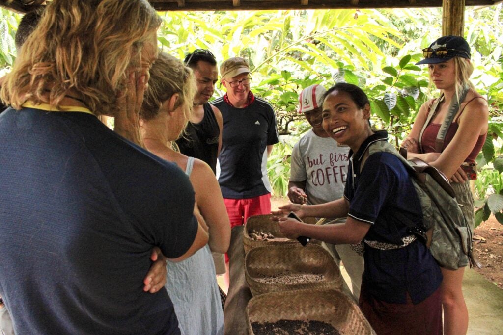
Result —
[[[246, 220], [246, 225], [244, 226], [243, 229], [243, 246], [245, 254], [247, 254], [248, 251], [250, 251], [250, 249], [257, 247], [264, 247], [271, 245], [299, 244], [297, 240], [286, 239], [285, 235], [281, 234], [280, 232], [278, 222], [272, 221], [271, 216], [273, 215], [266, 214], [266, 215], [254, 215], [248, 217], [248, 219]], [[314, 217], [306, 217], [305, 219], [303, 219], [303, 221], [313, 225], [316, 223], [316, 219]], [[270, 233], [275, 238], [286, 239], [286, 240], [272, 239], [268, 241], [256, 241], [252, 239], [248, 233], [248, 231], [254, 231], [254, 230], [257, 232]], [[312, 240], [310, 243], [319, 244], [319, 242], [314, 240]]]

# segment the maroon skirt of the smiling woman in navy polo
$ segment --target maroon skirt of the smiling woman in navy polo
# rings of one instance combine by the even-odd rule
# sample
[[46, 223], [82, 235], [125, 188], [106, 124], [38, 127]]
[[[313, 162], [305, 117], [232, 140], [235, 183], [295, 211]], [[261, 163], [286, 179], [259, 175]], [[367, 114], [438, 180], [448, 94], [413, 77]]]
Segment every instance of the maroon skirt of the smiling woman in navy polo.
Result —
[[440, 287], [428, 298], [414, 305], [408, 294], [405, 304], [376, 300], [362, 283], [360, 308], [377, 335], [443, 333]]

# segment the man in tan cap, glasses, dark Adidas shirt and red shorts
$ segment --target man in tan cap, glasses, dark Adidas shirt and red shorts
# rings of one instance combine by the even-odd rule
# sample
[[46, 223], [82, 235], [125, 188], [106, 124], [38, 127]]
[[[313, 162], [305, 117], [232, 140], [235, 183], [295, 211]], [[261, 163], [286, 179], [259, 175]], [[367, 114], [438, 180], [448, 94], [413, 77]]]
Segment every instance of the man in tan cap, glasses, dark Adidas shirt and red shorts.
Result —
[[218, 182], [234, 227], [251, 215], [271, 212], [267, 157], [279, 137], [273, 107], [250, 91], [248, 62], [229, 58], [220, 65], [220, 75], [227, 93], [211, 102], [223, 117]]

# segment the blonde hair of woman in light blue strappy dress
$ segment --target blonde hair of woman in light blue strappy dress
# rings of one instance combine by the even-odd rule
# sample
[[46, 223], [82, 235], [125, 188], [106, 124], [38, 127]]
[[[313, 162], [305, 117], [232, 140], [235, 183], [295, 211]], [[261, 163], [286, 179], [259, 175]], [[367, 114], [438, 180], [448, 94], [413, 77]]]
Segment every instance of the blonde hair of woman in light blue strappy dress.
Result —
[[193, 112], [196, 79], [191, 68], [185, 66], [181, 60], [159, 52], [157, 60], [150, 68], [150, 80], [140, 109], [140, 119], [154, 119], [159, 114], [162, 103], [175, 93], [179, 94], [175, 108], [183, 106], [186, 126]]

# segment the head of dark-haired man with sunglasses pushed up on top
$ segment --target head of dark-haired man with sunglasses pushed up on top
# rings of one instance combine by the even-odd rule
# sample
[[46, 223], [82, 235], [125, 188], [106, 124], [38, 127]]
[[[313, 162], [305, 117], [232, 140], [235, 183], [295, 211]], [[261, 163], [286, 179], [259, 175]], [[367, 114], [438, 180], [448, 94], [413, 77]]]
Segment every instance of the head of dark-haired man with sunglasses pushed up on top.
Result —
[[197, 92], [195, 104], [205, 104], [215, 91], [218, 81], [218, 68], [215, 56], [208, 50], [196, 49], [185, 56], [185, 64], [189, 66], [196, 77]]

